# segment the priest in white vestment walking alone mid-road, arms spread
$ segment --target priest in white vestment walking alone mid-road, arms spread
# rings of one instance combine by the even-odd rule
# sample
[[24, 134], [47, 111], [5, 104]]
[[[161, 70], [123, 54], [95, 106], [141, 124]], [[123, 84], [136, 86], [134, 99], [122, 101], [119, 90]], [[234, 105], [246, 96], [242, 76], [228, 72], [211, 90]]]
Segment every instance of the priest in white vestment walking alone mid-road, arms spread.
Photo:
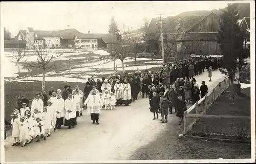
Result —
[[92, 93], [88, 96], [83, 105], [88, 106], [93, 124], [95, 124], [96, 121], [96, 124], [99, 125], [99, 113], [103, 106], [99, 94], [96, 94], [95, 90], [92, 90]]

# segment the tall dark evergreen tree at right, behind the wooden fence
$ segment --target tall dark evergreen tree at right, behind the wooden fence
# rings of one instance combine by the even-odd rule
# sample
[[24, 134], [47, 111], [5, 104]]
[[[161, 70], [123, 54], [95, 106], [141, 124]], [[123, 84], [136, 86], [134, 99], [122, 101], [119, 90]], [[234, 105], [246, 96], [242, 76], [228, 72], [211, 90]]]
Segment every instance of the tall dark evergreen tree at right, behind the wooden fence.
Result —
[[234, 77], [238, 71], [237, 64], [239, 64], [239, 69], [246, 64], [244, 59], [247, 56], [245, 55], [243, 45], [245, 32], [239, 27], [239, 12], [236, 5], [228, 4], [226, 10], [223, 10], [220, 15], [220, 18], [218, 43], [223, 54], [223, 67], [226, 68], [231, 85], [234, 86]]

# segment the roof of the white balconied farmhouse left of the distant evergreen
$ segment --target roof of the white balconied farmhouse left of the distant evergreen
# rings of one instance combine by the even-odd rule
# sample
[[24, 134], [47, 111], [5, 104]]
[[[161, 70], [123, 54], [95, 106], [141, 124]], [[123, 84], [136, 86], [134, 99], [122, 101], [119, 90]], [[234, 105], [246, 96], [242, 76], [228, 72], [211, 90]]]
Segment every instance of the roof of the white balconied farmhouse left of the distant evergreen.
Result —
[[112, 34], [78, 34], [75, 36], [78, 39], [102, 39], [105, 43], [118, 43]]

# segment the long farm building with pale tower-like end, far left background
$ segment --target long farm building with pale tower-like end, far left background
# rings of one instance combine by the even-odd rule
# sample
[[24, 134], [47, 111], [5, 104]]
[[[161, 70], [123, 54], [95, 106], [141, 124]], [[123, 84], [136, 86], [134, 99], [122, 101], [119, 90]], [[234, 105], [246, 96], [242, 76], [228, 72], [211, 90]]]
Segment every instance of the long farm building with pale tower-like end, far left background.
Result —
[[74, 48], [74, 35], [82, 34], [76, 29], [42, 31], [27, 28], [17, 34], [18, 40], [26, 40], [27, 48]]

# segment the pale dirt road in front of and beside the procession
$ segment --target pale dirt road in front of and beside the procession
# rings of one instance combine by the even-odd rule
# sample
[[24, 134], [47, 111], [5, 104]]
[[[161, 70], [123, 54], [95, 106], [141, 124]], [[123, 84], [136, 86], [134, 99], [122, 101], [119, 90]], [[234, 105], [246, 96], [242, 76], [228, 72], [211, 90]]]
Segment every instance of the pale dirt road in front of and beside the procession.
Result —
[[[212, 82], [207, 82], [207, 73], [197, 76], [200, 83], [205, 80], [209, 89], [224, 77], [218, 71], [212, 73]], [[177, 124], [175, 114], [169, 116], [167, 124], [153, 121], [148, 109], [148, 99], [139, 99], [129, 107], [102, 111], [100, 125], [92, 124], [90, 115], [78, 118], [74, 129], [62, 128], [52, 132], [46, 141], [31, 143], [26, 147], [11, 147], [11, 137], [6, 140], [6, 161], [46, 160], [124, 160], [133, 152], [160, 136], [168, 124]], [[181, 126], [177, 127], [179, 130]], [[182, 129], [182, 128], [181, 128]], [[170, 134], [172, 135], [172, 134]]]

